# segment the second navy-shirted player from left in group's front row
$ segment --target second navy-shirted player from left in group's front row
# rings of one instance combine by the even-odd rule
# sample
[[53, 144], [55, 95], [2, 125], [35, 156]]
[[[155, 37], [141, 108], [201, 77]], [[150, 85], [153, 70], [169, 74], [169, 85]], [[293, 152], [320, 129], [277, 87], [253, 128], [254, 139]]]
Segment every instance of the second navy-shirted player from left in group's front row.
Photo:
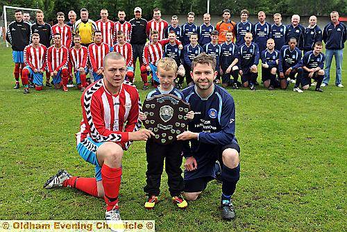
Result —
[[185, 67], [185, 82], [187, 85], [193, 85], [193, 79], [190, 75], [192, 72], [192, 61], [198, 54], [203, 52], [203, 48], [198, 44], [198, 34], [190, 35], [190, 44], [183, 48], [183, 67]]

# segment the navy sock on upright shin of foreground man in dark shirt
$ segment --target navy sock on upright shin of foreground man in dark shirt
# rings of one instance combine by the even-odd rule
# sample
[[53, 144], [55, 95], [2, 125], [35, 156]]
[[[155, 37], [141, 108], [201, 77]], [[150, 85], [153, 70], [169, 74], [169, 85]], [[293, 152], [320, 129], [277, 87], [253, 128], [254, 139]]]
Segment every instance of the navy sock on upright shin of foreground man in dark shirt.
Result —
[[240, 165], [237, 165], [237, 167], [233, 169], [223, 165], [222, 170], [221, 179], [223, 184], [221, 185], [221, 190], [224, 195], [231, 196], [235, 192], [237, 181], [239, 181]]

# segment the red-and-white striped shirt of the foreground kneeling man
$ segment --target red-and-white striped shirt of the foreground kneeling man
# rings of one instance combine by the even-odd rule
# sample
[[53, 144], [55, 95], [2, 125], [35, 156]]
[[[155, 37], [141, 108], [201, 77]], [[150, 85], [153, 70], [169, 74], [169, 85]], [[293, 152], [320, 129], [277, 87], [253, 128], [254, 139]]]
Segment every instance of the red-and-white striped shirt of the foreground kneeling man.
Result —
[[81, 105], [83, 120], [81, 130], [76, 134], [77, 144], [90, 137], [95, 142], [118, 142], [128, 149], [128, 133], [141, 128], [141, 101], [135, 85], [124, 81], [119, 94], [113, 95], [101, 79], [83, 92]]

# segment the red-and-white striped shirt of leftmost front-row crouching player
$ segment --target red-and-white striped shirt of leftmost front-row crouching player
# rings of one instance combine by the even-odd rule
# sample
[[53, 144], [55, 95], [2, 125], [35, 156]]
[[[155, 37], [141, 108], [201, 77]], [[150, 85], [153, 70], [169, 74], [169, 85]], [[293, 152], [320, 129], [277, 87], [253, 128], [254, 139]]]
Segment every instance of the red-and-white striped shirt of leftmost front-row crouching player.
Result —
[[46, 67], [46, 51], [47, 48], [43, 44], [39, 44], [36, 48], [33, 44], [28, 44], [24, 49], [24, 63], [31, 69], [44, 69]]

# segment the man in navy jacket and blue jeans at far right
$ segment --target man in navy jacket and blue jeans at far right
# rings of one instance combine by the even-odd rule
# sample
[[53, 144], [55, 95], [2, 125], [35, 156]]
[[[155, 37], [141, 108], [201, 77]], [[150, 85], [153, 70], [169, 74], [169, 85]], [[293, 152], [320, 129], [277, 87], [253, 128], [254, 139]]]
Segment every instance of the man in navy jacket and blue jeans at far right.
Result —
[[328, 85], [330, 80], [330, 66], [332, 62], [332, 56], [335, 56], [336, 61], [336, 79], [335, 85], [339, 88], [343, 88], [342, 85], [342, 56], [344, 54], [344, 43], [347, 39], [347, 28], [346, 25], [339, 22], [339, 13], [332, 11], [330, 13], [331, 23], [324, 27], [323, 30], [323, 41], [325, 42], [325, 69], [324, 79], [322, 87]]

